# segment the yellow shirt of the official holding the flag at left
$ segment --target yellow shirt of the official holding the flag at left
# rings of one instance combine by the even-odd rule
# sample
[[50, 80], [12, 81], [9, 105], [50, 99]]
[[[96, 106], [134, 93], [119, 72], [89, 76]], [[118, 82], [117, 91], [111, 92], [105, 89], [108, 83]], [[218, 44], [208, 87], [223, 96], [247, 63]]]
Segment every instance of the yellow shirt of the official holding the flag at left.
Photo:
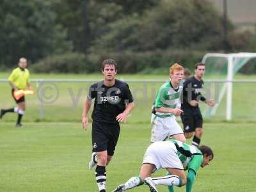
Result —
[[13, 69], [8, 80], [12, 81], [19, 90], [24, 90], [29, 83], [29, 70], [27, 68], [21, 70], [20, 67], [17, 67]]

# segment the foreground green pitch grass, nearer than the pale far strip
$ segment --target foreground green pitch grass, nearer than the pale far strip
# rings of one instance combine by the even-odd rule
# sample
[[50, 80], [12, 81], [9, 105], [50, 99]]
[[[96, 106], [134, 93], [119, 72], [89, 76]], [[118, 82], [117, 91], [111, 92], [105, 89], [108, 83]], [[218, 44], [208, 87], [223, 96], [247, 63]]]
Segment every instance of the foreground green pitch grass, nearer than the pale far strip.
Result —
[[[115, 156], [107, 168], [108, 191], [138, 175], [149, 145], [150, 125], [131, 124], [131, 120], [122, 124]], [[91, 125], [85, 133], [80, 123], [27, 122], [15, 128], [13, 122], [1, 122], [0, 191], [97, 191], [94, 172], [87, 168], [90, 134]], [[200, 169], [193, 191], [255, 191], [255, 135], [255, 124], [206, 123], [202, 144], [213, 148], [214, 160]], [[159, 191], [167, 190], [159, 186]]]

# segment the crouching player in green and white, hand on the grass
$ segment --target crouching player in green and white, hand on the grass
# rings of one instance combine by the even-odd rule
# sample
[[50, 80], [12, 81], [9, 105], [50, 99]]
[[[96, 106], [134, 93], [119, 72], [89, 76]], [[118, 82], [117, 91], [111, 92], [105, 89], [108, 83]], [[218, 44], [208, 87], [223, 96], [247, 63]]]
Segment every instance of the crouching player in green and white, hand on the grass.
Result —
[[[213, 152], [207, 146], [196, 148], [177, 140], [157, 141], [152, 143], [144, 155], [140, 176], [131, 177], [125, 184], [118, 186], [113, 192], [126, 191], [142, 184], [147, 184], [151, 192], [157, 192], [158, 184], [166, 185], [170, 191], [172, 186], [186, 185], [186, 191], [192, 190], [198, 168], [209, 164]], [[170, 175], [150, 177], [160, 168], [165, 168]], [[185, 175], [184, 170], [188, 170]]]

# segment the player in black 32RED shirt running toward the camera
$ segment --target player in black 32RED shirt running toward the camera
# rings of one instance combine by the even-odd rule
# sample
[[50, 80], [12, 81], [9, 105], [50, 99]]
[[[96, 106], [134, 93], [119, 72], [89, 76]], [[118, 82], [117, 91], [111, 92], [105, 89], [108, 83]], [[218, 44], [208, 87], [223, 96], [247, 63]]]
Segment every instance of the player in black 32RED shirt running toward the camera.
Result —
[[97, 164], [95, 177], [100, 192], [106, 191], [106, 166], [111, 161], [118, 141], [120, 125], [132, 110], [133, 98], [127, 83], [115, 79], [116, 61], [102, 63], [103, 81], [92, 84], [84, 102], [83, 127], [86, 131], [88, 111], [94, 100], [92, 112], [92, 159], [89, 169]]

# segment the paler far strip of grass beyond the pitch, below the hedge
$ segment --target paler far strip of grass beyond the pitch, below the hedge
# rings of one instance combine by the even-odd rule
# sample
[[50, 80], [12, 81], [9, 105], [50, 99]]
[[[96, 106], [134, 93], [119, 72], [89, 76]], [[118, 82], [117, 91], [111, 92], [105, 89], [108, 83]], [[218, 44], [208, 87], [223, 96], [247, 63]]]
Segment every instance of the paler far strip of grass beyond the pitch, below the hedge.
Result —
[[[0, 79], [8, 77], [7, 73], [0, 73]], [[95, 79], [100, 81], [102, 79], [101, 74], [32, 74], [34, 79]], [[168, 76], [163, 75], [119, 75], [118, 79], [164, 79], [168, 80]], [[207, 77], [205, 77], [207, 79]], [[256, 79], [256, 76], [243, 76], [241, 74], [236, 76], [236, 79]], [[93, 81], [94, 82], [94, 81]], [[38, 90], [40, 85], [33, 83], [33, 88], [36, 91], [35, 95], [26, 97], [28, 110], [26, 116], [24, 116], [25, 122], [79, 122], [81, 120], [81, 111], [83, 110], [83, 101], [86, 98], [88, 87], [92, 83], [46, 83], [44, 86], [52, 88], [52, 90], [46, 90], [45, 96], [51, 97], [57, 95], [54, 85], [58, 89], [58, 97], [54, 102], [50, 104], [40, 103], [38, 99]], [[147, 123], [150, 118], [150, 108], [154, 102], [154, 98], [157, 90], [163, 84], [162, 82], [154, 83], [129, 83], [132, 90], [132, 94], [135, 99], [136, 107], [132, 113], [132, 123]], [[205, 94], [211, 90], [212, 97], [216, 99], [214, 93], [216, 87], [221, 90], [222, 83], [211, 84], [205, 83]], [[256, 105], [254, 104], [253, 98], [256, 97], [256, 91], [253, 90], [255, 83], [234, 83], [233, 88], [233, 109], [232, 117], [234, 121], [255, 121]], [[8, 83], [0, 83], [0, 108], [10, 108], [15, 106], [13, 102], [10, 85]], [[49, 101], [46, 99], [46, 101]], [[205, 104], [200, 104], [202, 111], [205, 111]], [[221, 101], [220, 107], [216, 115], [209, 119], [214, 121], [225, 120], [225, 109], [226, 103], [225, 98]], [[142, 113], [141, 113], [142, 112]], [[13, 115], [4, 116], [5, 122], [11, 122], [15, 120]]]

